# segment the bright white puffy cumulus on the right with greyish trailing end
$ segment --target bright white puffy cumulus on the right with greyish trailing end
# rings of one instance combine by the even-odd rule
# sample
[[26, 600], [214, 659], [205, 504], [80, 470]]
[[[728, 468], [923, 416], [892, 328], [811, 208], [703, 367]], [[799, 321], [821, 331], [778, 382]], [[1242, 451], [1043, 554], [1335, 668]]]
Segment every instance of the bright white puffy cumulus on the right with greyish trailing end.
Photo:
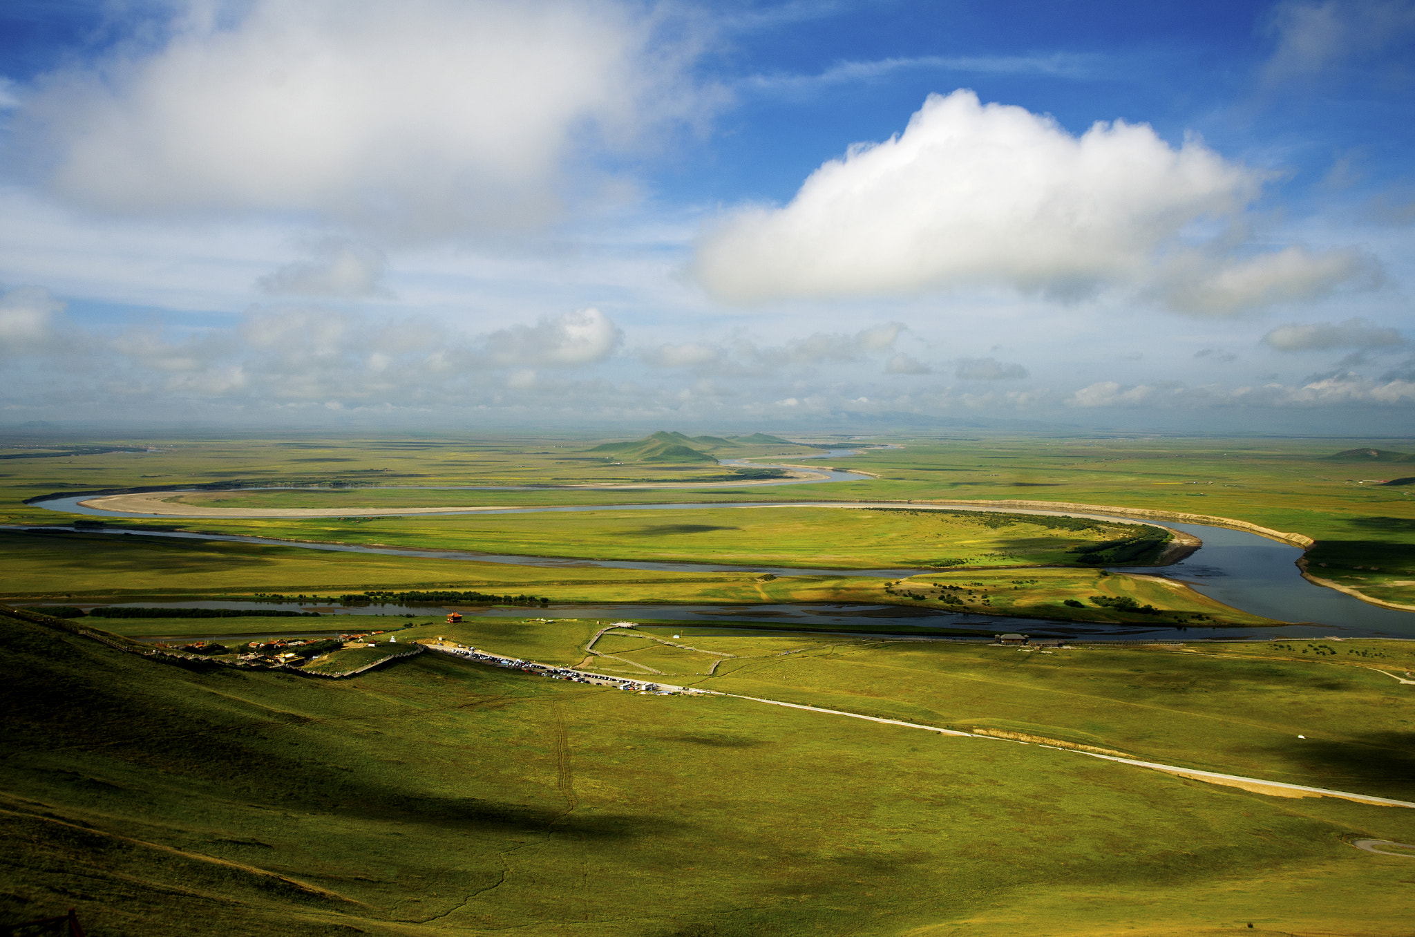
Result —
[[957, 91], [931, 95], [901, 134], [818, 168], [785, 207], [723, 218], [692, 272], [739, 303], [999, 284], [1073, 299], [1122, 286], [1225, 313], [1320, 294], [1364, 270], [1348, 252], [1235, 260], [1187, 243], [1196, 222], [1241, 214], [1261, 181], [1199, 142], [1170, 147], [1148, 125], [1097, 123], [1075, 137]]

